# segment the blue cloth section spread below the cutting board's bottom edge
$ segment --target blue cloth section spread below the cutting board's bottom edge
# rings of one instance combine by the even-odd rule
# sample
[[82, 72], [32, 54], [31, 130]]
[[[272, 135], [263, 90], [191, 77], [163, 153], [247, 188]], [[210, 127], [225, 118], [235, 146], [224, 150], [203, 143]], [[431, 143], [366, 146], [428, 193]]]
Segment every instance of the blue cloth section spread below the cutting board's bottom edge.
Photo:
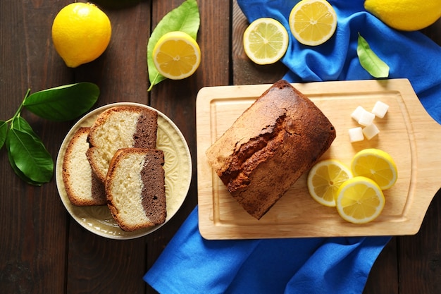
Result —
[[205, 240], [197, 208], [145, 274], [159, 293], [361, 293], [390, 237]]

